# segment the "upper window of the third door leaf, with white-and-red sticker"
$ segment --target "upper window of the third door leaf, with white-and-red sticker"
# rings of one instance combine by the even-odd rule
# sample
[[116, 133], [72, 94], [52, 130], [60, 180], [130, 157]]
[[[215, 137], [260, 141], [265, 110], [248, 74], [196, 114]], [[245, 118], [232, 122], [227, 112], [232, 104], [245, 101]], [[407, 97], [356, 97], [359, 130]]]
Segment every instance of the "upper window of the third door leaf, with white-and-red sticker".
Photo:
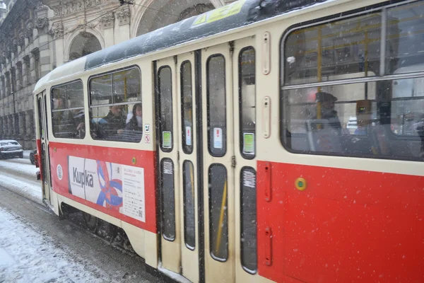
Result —
[[208, 149], [212, 156], [227, 152], [227, 117], [225, 102], [225, 59], [221, 54], [207, 62]]

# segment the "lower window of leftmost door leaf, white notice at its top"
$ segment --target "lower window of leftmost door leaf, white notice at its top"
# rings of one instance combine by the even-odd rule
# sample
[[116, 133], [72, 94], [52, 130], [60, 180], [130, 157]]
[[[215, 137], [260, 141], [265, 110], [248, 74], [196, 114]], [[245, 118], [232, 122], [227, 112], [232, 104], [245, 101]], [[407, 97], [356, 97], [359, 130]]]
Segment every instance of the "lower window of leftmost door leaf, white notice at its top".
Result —
[[162, 212], [162, 235], [167, 241], [175, 240], [175, 188], [174, 163], [170, 158], [160, 161], [160, 195]]

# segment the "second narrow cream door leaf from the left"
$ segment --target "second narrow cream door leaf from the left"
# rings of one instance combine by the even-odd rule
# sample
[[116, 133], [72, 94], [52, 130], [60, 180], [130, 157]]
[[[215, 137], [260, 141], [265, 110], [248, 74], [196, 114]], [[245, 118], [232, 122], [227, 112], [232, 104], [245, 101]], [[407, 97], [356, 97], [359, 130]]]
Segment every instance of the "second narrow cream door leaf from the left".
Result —
[[182, 275], [199, 282], [199, 215], [196, 132], [196, 64], [194, 52], [177, 57], [179, 117], [179, 218]]

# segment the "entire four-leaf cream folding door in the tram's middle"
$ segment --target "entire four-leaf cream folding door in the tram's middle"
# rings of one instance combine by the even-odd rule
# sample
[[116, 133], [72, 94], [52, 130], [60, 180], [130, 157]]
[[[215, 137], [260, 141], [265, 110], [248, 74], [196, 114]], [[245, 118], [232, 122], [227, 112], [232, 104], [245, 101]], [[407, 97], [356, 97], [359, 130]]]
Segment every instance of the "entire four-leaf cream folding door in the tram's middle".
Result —
[[[205, 282], [235, 282], [236, 277], [243, 282], [256, 272], [252, 43], [252, 38], [238, 40], [201, 50], [199, 57], [192, 52], [156, 62], [161, 258], [163, 267], [192, 282], [200, 278]], [[244, 71], [239, 66], [245, 66]], [[243, 83], [239, 83], [239, 74]], [[241, 104], [248, 117], [243, 120], [249, 121], [243, 125], [249, 127], [238, 125], [242, 119], [237, 114], [239, 85], [245, 91], [243, 96], [249, 97]], [[199, 89], [201, 93], [196, 93]], [[239, 144], [244, 146], [241, 151]], [[235, 159], [240, 162], [237, 166]], [[254, 212], [253, 216], [245, 212], [251, 216], [250, 226], [242, 228], [240, 178], [244, 177], [236, 173], [249, 179], [248, 188], [243, 190], [249, 191], [245, 196]], [[249, 233], [249, 243], [254, 243], [249, 248], [235, 242], [242, 238], [240, 229], [254, 231]], [[248, 262], [243, 268], [240, 250], [247, 259], [241, 261]], [[240, 269], [244, 273], [239, 276]]]

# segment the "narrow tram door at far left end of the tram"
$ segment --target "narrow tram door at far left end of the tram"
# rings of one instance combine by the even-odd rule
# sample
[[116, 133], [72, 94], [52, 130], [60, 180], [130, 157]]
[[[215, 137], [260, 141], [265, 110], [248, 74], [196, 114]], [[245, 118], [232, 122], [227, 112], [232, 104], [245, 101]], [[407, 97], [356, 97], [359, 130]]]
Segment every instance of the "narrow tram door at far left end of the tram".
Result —
[[37, 95], [37, 132], [40, 134], [40, 171], [42, 172], [42, 198], [47, 204], [51, 203], [50, 192], [52, 186], [50, 183], [49, 166], [49, 140], [47, 133], [47, 101], [45, 92]]

